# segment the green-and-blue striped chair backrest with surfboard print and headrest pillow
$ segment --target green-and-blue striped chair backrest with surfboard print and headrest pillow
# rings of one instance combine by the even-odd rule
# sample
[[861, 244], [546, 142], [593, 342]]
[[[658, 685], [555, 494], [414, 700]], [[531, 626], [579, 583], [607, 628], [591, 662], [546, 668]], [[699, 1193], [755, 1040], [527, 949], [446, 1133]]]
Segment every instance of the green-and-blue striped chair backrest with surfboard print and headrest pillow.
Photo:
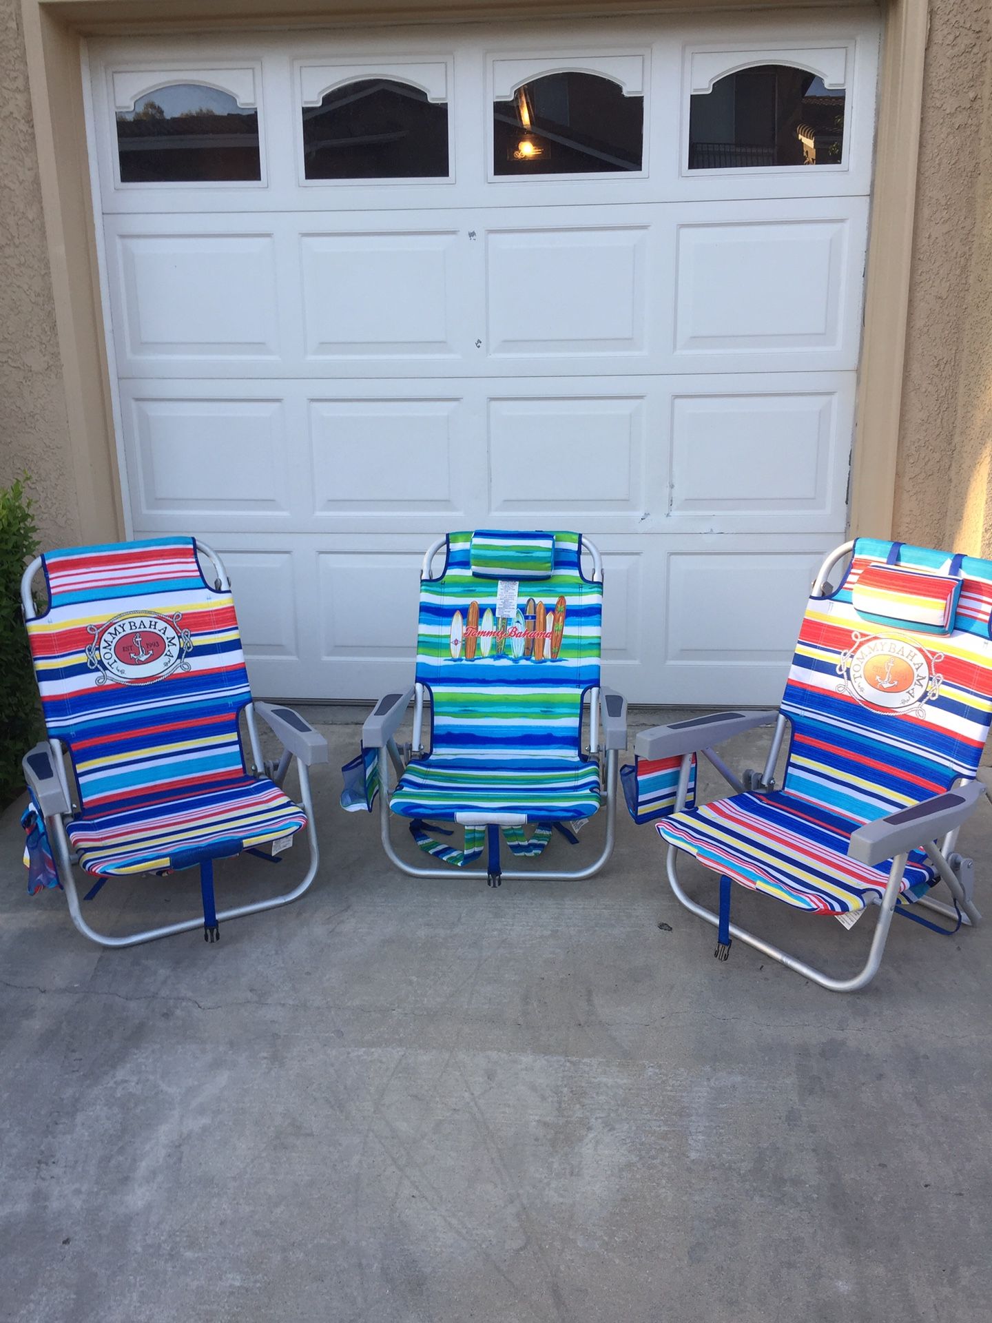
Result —
[[440, 574], [421, 581], [417, 679], [433, 696], [433, 747], [579, 753], [602, 605], [578, 533], [450, 533]]

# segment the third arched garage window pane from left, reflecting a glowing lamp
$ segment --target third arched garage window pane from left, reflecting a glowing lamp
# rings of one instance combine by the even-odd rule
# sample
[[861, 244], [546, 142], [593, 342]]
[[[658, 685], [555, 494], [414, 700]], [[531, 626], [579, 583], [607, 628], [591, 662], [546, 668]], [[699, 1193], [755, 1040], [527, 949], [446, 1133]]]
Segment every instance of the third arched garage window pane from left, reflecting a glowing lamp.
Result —
[[595, 74], [546, 74], [493, 102], [492, 138], [496, 175], [640, 169], [644, 98]]

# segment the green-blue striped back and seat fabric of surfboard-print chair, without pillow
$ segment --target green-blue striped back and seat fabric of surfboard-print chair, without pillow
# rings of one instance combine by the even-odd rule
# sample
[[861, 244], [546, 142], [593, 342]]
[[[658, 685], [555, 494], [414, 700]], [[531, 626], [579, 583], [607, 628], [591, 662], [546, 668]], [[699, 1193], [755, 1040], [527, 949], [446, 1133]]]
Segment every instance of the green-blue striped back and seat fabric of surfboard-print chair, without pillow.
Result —
[[603, 589], [583, 577], [579, 534], [553, 538], [552, 573], [521, 583], [516, 613], [500, 618], [489, 565], [472, 572], [474, 534], [448, 536], [443, 572], [421, 583], [417, 680], [433, 699], [431, 753], [407, 766], [393, 812], [570, 822], [599, 808], [581, 721], [583, 693], [599, 684]]

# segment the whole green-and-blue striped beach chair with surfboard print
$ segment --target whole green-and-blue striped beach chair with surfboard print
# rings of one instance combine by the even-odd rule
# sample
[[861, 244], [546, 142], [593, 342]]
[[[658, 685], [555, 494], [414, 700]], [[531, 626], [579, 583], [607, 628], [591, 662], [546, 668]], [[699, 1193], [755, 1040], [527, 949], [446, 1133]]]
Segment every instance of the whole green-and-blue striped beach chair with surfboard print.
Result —
[[[438, 556], [443, 564], [434, 574]], [[516, 857], [536, 859], [553, 833], [575, 843], [604, 802], [598, 859], [571, 872], [542, 868], [541, 876], [587, 877], [603, 867], [614, 844], [627, 710], [599, 680], [602, 599], [599, 553], [578, 533], [480, 529], [450, 533], [427, 550], [414, 684], [386, 695], [362, 730], [364, 758], [377, 754], [382, 844], [397, 868], [444, 876], [443, 868], [399, 857], [390, 837], [395, 816], [409, 820], [435, 860], [499, 885], [504, 876], [529, 876], [504, 873], [504, 844]], [[413, 740], [401, 750], [395, 736], [411, 701]], [[485, 868], [468, 867], [483, 852]]]

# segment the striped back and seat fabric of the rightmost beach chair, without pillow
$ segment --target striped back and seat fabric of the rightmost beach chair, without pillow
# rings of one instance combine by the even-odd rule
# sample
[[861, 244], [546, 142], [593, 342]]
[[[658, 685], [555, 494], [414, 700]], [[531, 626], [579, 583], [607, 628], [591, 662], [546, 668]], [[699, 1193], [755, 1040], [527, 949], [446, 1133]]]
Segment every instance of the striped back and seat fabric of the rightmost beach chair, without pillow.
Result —
[[[877, 566], [894, 560], [922, 572], [921, 599], [889, 598], [881, 624], [858, 610], [858, 585], [868, 577], [874, 593]], [[899, 598], [910, 582], [902, 577]], [[951, 598], [950, 632], [938, 636], [934, 603]], [[849, 859], [848, 841], [861, 824], [975, 778], [992, 720], [991, 618], [992, 561], [955, 557], [948, 568], [942, 552], [858, 538], [840, 587], [811, 598], [803, 618], [782, 703], [792, 726], [783, 789], [675, 814], [657, 831], [799, 909], [843, 914], [878, 901], [889, 865]], [[934, 881], [923, 851], [913, 852], [903, 900]]]

